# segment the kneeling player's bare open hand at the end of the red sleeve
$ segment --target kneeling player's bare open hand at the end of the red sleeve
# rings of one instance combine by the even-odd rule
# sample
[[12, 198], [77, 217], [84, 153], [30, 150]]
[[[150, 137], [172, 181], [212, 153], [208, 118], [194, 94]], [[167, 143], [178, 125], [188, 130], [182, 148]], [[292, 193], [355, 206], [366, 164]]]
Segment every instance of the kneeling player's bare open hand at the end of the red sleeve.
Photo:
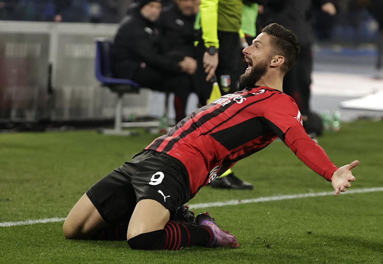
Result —
[[340, 192], [344, 192], [351, 187], [351, 181], [355, 181], [351, 170], [359, 164], [358, 160], [352, 161], [350, 164], [340, 167], [334, 172], [331, 178], [332, 187], [334, 187], [334, 196], [338, 196]]

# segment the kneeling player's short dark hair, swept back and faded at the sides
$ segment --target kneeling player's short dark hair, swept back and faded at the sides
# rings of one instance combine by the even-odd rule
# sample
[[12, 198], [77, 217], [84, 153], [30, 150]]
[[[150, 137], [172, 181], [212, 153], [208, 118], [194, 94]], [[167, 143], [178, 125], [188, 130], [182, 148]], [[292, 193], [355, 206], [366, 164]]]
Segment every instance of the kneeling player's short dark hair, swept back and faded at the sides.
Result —
[[301, 45], [298, 37], [278, 23], [271, 23], [262, 29], [271, 36], [271, 45], [275, 53], [284, 57], [282, 69], [287, 73], [297, 62]]

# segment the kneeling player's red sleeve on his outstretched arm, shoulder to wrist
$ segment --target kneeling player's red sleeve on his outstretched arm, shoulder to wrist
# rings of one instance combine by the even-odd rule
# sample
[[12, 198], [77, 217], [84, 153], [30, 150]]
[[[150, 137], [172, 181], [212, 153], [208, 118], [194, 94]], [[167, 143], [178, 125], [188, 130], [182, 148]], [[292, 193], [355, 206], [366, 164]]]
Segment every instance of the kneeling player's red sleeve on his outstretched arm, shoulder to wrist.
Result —
[[326, 180], [331, 181], [332, 174], [338, 170], [338, 167], [330, 161], [324, 150], [307, 135], [302, 126], [302, 117], [298, 106], [292, 99], [288, 99], [274, 100], [273, 107], [269, 106], [265, 111], [269, 126], [275, 130], [286, 146], [304, 164]]

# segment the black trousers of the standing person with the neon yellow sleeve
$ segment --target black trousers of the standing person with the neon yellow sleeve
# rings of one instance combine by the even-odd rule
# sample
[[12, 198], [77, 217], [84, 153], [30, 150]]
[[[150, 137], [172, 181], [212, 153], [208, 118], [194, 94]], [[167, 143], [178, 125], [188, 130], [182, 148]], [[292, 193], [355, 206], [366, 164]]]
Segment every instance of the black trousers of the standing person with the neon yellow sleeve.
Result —
[[[237, 90], [238, 67], [240, 66], [240, 41], [237, 32], [218, 31], [218, 40], [220, 41], [220, 51], [218, 54], [218, 66], [216, 69], [216, 77], [222, 94], [233, 93]], [[203, 40], [200, 39], [196, 47], [197, 56], [197, 72], [195, 91], [198, 95], [201, 105], [206, 104], [209, 99], [212, 82], [206, 82], [205, 69], [203, 67], [203, 55], [206, 51]]]

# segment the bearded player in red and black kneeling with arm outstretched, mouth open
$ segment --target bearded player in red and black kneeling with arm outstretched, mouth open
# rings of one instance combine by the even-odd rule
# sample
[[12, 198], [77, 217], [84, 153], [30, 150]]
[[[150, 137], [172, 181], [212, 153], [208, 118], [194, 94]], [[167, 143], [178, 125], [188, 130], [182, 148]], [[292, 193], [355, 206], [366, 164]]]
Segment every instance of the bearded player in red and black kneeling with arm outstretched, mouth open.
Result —
[[266, 26], [243, 50], [249, 67], [241, 81], [247, 88], [192, 112], [91, 186], [69, 212], [64, 236], [127, 239], [131, 248], [144, 250], [188, 245], [237, 248], [235, 237], [208, 213], [199, 214], [196, 222], [182, 221], [175, 218], [177, 209], [235, 162], [277, 137], [310, 169], [331, 181], [335, 196], [346, 191], [355, 180], [351, 169], [359, 161], [338, 169], [307, 136], [296, 103], [282, 92], [283, 76], [299, 50], [291, 31], [277, 23]]

